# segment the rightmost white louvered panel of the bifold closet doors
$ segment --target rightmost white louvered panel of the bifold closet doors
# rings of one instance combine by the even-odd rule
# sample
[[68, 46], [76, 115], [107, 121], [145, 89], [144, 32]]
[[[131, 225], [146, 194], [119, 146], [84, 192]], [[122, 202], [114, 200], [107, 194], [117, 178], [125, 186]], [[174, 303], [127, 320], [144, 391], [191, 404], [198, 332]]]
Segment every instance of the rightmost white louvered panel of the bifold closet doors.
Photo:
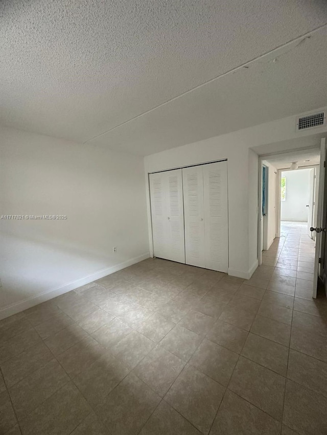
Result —
[[228, 272], [227, 162], [203, 165], [205, 267]]

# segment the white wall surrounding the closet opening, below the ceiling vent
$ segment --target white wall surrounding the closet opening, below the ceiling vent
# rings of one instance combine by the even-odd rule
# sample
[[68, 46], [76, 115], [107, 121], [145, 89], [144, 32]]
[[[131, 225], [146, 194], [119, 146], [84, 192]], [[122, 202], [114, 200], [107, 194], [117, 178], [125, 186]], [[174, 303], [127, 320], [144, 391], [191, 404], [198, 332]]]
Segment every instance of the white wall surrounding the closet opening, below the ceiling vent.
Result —
[[[252, 225], [249, 219], [249, 198], [251, 194], [249, 194], [248, 181], [249, 171], [252, 170], [249, 165], [249, 149], [264, 144], [270, 144], [269, 151], [275, 152], [281, 150], [281, 146], [279, 146], [278, 142], [310, 136], [312, 131], [296, 132], [296, 117], [299, 115], [302, 114], [266, 122], [254, 127], [249, 127], [248, 129], [190, 143], [145, 157], [150, 254], [153, 254], [153, 250], [148, 173], [227, 158], [229, 226], [228, 273], [234, 276], [249, 278], [252, 273], [249, 264], [254, 257], [253, 245], [251, 244], [250, 246], [249, 243], [249, 227]], [[324, 126], [315, 130], [314, 133], [318, 134], [325, 131], [327, 131], [327, 127]], [[296, 145], [296, 141], [294, 141], [294, 148], [296, 148], [296, 146], [298, 145]], [[288, 149], [291, 149], [291, 146]]]

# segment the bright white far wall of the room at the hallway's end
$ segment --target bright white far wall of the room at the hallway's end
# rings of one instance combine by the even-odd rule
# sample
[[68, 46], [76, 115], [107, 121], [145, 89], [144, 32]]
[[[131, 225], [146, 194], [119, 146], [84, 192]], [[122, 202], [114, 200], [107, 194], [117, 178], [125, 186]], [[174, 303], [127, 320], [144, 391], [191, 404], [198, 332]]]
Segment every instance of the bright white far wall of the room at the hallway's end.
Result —
[[286, 177], [286, 200], [281, 201], [281, 220], [308, 221], [310, 169], [282, 172]]

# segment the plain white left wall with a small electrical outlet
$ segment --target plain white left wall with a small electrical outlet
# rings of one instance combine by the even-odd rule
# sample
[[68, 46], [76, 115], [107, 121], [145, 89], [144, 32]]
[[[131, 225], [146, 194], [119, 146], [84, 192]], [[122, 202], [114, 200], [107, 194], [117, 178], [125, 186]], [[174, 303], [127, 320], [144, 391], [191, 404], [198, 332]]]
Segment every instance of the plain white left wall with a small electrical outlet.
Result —
[[149, 256], [143, 158], [7, 128], [0, 147], [0, 215], [67, 215], [0, 220], [0, 318]]

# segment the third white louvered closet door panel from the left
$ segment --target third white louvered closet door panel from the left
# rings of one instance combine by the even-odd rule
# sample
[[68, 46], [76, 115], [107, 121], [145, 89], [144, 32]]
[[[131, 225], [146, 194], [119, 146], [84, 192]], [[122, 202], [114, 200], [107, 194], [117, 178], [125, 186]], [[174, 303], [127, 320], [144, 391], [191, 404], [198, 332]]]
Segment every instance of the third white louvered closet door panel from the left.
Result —
[[185, 262], [205, 267], [202, 166], [183, 168]]

